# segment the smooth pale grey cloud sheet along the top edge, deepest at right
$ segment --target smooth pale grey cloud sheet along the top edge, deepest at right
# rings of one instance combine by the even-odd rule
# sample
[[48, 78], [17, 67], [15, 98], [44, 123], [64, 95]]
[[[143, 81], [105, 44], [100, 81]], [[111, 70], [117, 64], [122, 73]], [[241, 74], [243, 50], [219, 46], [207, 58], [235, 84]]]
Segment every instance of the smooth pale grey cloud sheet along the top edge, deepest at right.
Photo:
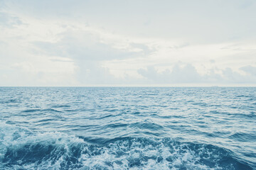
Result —
[[[254, 1], [6, 1], [37, 19], [93, 23], [122, 35], [190, 43], [253, 40]], [[132, 12], [131, 12], [132, 11]], [[216, 13], [218, 11], [218, 13]], [[144, 24], [150, 21], [150, 24]]]

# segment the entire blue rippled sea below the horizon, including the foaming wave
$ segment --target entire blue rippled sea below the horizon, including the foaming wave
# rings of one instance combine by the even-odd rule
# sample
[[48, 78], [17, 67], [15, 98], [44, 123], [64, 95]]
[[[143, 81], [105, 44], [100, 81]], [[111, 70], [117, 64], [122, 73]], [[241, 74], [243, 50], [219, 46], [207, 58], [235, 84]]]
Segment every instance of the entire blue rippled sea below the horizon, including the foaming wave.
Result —
[[256, 169], [256, 88], [0, 87], [0, 169]]

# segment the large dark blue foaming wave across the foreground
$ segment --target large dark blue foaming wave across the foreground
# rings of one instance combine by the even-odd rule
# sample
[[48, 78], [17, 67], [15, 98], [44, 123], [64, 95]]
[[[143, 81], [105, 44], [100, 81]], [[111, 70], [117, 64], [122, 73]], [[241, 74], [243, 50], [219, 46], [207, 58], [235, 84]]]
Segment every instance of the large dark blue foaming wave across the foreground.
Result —
[[169, 137], [99, 140], [0, 128], [0, 169], [252, 169], [228, 149]]

